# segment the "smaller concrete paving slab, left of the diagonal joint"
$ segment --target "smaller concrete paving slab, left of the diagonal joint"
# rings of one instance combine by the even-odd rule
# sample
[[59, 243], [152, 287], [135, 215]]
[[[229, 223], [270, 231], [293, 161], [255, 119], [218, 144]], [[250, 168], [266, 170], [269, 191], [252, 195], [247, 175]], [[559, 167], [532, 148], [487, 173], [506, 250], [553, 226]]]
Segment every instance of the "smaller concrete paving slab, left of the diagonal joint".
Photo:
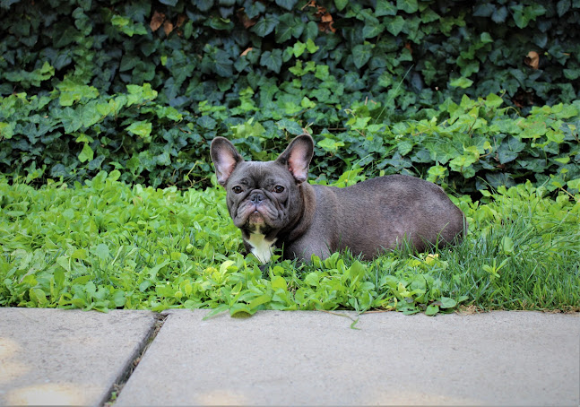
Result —
[[155, 322], [149, 311], [0, 308], [0, 405], [102, 405]]

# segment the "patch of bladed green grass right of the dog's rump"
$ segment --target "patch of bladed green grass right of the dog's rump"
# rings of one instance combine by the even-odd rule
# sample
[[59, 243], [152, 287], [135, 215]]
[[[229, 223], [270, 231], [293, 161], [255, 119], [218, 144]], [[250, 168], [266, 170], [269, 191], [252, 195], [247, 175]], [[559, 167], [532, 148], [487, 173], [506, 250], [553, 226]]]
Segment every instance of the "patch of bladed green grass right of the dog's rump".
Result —
[[577, 198], [576, 204], [566, 195], [542, 199], [530, 185], [494, 198], [472, 212], [472, 233], [446, 255], [440, 278], [454, 281], [453, 290], [480, 308], [578, 310]]

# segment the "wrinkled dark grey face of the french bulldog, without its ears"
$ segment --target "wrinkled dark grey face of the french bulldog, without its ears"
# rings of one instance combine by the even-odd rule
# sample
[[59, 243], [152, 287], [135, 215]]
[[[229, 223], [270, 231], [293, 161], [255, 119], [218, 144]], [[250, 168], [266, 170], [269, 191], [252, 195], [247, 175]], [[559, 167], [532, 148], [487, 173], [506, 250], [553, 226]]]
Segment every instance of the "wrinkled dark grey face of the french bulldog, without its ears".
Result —
[[267, 235], [288, 223], [295, 179], [276, 161], [240, 162], [225, 185], [229, 214], [239, 229]]

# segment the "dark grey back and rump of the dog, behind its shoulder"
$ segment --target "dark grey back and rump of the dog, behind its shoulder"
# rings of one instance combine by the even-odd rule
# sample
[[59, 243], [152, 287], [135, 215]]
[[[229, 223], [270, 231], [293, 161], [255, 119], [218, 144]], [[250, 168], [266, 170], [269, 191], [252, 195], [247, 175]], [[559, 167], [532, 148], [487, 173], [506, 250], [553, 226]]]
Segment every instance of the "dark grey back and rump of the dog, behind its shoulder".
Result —
[[[393, 175], [354, 186], [315, 186], [316, 206], [336, 208], [331, 251], [349, 248], [353, 255], [372, 258], [406, 240], [418, 251], [430, 245], [458, 243], [466, 231], [463, 212], [443, 189], [420, 178]], [[330, 225], [329, 225], [330, 226]], [[349, 244], [345, 244], [349, 242]]]

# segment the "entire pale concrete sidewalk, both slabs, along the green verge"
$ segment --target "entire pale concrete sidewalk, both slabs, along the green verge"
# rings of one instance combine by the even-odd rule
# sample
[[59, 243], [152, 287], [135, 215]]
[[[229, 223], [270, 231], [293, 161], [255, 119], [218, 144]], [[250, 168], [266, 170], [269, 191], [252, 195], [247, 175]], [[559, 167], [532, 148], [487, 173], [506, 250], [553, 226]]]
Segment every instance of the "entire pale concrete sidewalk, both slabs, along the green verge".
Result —
[[577, 314], [208, 312], [0, 308], [0, 404], [580, 403]]

